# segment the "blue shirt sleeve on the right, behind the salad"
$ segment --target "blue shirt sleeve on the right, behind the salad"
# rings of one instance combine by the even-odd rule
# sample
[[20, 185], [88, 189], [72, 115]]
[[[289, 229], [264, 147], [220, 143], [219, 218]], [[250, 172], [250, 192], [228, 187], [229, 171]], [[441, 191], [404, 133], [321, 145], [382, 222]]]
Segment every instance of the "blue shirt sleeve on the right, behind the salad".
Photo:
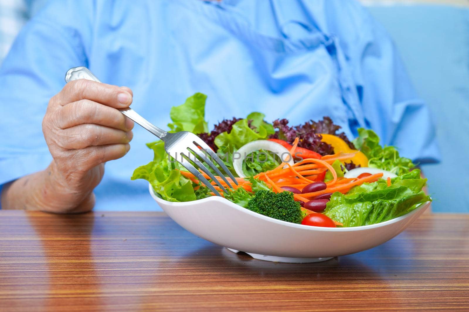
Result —
[[439, 161], [430, 110], [416, 94], [386, 30], [356, 1], [325, 3], [335, 12], [325, 27], [344, 51], [366, 126], [401, 156], [422, 164]]

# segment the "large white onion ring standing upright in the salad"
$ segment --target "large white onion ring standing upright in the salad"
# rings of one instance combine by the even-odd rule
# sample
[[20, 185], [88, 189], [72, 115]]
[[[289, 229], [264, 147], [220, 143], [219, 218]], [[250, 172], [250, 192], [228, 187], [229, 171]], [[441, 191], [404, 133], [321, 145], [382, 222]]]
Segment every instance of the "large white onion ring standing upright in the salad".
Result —
[[[242, 162], [244, 161], [244, 155], [247, 156], [250, 153], [258, 151], [258, 150], [265, 150], [265, 151], [275, 153], [280, 157], [282, 161], [286, 160], [285, 162], [292, 166], [295, 163], [293, 161], [293, 156], [290, 154], [290, 151], [288, 151], [282, 145], [272, 142], [272, 141], [268, 141], [268, 140], [252, 141], [245, 145], [242, 145], [241, 148], [237, 151], [241, 157], [239, 159], [233, 160], [234, 171], [236, 171], [236, 174], [238, 174], [241, 178], [246, 177], [244, 173], [242, 172]], [[234, 155], [233, 155], [233, 158], [234, 158]], [[287, 167], [287, 165], [285, 166]]]

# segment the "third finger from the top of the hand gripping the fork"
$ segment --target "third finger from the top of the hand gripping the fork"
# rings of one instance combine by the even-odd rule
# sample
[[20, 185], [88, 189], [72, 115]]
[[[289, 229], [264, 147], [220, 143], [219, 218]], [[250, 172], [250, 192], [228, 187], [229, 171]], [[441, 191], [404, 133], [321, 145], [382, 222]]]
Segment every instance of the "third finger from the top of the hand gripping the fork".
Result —
[[92, 123], [67, 128], [59, 134], [59, 145], [67, 150], [79, 150], [87, 146], [125, 144], [133, 138], [132, 131], [122, 131]]

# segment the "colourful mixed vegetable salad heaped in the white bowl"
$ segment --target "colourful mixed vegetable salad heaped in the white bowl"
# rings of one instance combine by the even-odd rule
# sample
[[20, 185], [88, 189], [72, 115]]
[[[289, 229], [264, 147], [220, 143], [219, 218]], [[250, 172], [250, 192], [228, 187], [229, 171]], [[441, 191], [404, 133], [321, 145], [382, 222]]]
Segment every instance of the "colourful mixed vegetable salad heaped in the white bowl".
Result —
[[[197, 134], [219, 155], [238, 185], [223, 193], [211, 183], [246, 209], [297, 224], [349, 227], [390, 220], [431, 201], [420, 170], [395, 147], [382, 147], [372, 130], [361, 128], [350, 141], [329, 117], [291, 126], [253, 112], [209, 132], [205, 100], [197, 93], [173, 107], [168, 127]], [[162, 141], [147, 146], [153, 160], [136, 168], [132, 180], [149, 181], [155, 194], [172, 202], [215, 195], [166, 154]]]

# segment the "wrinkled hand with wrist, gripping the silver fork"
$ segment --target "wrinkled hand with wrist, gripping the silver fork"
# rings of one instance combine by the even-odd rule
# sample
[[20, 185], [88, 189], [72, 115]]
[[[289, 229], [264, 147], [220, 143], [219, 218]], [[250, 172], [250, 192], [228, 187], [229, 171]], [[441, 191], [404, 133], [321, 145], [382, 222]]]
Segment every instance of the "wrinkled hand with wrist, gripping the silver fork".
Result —
[[83, 79], [67, 83], [53, 96], [42, 129], [53, 157], [48, 183], [56, 196], [47, 196], [43, 210], [91, 210], [104, 163], [129, 151], [134, 123], [118, 109], [128, 107], [132, 96], [127, 87]]

